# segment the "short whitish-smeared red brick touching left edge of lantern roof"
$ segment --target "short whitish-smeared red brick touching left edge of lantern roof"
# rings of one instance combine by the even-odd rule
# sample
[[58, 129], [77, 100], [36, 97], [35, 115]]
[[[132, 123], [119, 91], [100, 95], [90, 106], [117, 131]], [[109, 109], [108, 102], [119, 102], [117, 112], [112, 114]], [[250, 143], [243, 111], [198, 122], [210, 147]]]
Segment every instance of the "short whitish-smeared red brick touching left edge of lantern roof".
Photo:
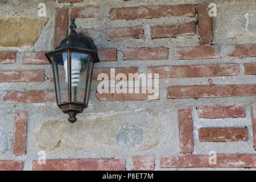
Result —
[[46, 52], [22, 52], [22, 64], [50, 64]]

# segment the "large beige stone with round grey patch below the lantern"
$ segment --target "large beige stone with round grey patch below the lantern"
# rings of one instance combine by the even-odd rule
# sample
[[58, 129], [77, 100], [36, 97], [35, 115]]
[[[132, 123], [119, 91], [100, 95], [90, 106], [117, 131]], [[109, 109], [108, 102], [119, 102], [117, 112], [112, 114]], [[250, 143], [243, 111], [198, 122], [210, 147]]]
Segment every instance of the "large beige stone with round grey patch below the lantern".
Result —
[[34, 145], [42, 150], [144, 151], [158, 146], [159, 122], [147, 111], [90, 114], [75, 124], [67, 119], [46, 121], [34, 133]]

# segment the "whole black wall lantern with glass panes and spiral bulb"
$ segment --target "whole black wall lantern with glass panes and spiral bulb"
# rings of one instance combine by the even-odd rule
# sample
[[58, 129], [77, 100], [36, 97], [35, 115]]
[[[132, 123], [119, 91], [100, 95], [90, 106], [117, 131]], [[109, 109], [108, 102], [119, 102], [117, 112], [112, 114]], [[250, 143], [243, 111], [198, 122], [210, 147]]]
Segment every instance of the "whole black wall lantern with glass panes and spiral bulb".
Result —
[[71, 19], [71, 32], [55, 51], [46, 53], [52, 64], [57, 105], [75, 123], [76, 114], [88, 107], [93, 64], [100, 62], [92, 40], [77, 34], [75, 19]]

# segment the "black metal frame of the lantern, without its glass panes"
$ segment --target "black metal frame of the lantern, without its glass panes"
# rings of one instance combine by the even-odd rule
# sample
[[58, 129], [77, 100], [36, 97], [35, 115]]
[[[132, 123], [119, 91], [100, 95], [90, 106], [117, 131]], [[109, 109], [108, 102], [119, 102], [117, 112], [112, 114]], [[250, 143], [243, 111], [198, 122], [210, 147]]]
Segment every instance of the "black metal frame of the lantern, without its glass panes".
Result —
[[[76, 32], [76, 24], [75, 18], [71, 19], [71, 25], [69, 26], [71, 32], [67, 38], [64, 38], [60, 46], [56, 47], [54, 51], [46, 52], [45, 55], [52, 64], [53, 69], [53, 77], [55, 84], [55, 93], [56, 93], [56, 102], [60, 109], [65, 114], [69, 114], [68, 121], [71, 123], [75, 123], [77, 121], [76, 115], [82, 113], [84, 108], [88, 107], [88, 100], [90, 95], [90, 84], [92, 81], [92, 73], [93, 73], [93, 65], [94, 63], [100, 62], [97, 54], [97, 48], [94, 45], [92, 39], [84, 34], [77, 34]], [[58, 70], [55, 69], [56, 63], [53, 60], [53, 56], [60, 55], [64, 52], [67, 52], [67, 60], [68, 60], [68, 101], [61, 102], [60, 98], [60, 86], [56, 83], [56, 78], [59, 79]], [[72, 61], [72, 52], [84, 53], [88, 55], [88, 66], [86, 72], [86, 84], [84, 90], [84, 102], [72, 101], [72, 81], [71, 81], [71, 61]], [[56, 75], [57, 74], [57, 75]], [[58, 80], [59, 83], [59, 80]]]

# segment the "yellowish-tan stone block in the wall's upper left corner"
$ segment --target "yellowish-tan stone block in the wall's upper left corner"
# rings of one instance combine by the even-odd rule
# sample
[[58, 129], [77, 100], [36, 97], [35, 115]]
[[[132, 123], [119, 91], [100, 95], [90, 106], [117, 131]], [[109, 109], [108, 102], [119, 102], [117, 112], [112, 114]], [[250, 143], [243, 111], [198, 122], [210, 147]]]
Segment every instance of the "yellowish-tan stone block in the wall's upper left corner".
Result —
[[46, 19], [1, 18], [0, 19], [0, 46], [21, 47], [33, 46], [46, 24]]

